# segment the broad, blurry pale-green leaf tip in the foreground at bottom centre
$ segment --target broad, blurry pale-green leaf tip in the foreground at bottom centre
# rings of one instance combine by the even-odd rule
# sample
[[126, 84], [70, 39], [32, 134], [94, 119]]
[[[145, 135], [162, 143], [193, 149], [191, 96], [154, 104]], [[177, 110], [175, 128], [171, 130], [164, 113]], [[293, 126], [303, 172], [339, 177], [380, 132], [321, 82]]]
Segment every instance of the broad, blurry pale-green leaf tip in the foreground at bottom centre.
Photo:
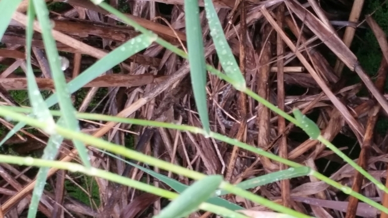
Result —
[[196, 181], [154, 217], [181, 218], [187, 216], [196, 211], [202, 202], [209, 199], [222, 181], [223, 178], [220, 175], [211, 175]]

